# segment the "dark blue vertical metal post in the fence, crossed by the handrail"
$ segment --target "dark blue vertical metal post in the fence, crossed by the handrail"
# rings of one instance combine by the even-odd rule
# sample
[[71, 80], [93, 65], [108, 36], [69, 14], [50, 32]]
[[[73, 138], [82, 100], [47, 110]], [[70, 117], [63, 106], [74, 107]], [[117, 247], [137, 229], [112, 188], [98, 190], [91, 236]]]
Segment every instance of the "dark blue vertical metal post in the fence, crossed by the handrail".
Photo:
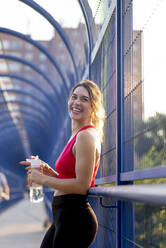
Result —
[[[123, 30], [122, 0], [116, 7], [116, 107], [117, 107], [117, 185], [121, 185], [120, 173], [123, 168]], [[117, 202], [116, 247], [122, 248], [122, 203]]]

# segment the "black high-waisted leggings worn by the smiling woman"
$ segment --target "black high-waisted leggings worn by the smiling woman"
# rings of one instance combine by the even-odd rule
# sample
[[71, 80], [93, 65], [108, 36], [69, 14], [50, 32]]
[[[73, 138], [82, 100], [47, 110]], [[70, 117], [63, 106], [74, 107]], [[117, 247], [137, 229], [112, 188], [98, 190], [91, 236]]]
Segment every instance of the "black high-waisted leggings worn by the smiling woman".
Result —
[[52, 202], [53, 223], [40, 248], [88, 248], [93, 243], [98, 223], [87, 196], [56, 196]]

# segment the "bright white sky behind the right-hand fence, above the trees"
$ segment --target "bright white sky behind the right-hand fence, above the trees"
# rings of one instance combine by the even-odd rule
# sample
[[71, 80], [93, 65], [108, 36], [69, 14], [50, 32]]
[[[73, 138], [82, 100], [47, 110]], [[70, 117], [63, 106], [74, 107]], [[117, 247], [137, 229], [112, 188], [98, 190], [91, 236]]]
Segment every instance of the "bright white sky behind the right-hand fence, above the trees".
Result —
[[166, 1], [134, 0], [133, 28], [143, 30], [145, 119], [166, 114]]

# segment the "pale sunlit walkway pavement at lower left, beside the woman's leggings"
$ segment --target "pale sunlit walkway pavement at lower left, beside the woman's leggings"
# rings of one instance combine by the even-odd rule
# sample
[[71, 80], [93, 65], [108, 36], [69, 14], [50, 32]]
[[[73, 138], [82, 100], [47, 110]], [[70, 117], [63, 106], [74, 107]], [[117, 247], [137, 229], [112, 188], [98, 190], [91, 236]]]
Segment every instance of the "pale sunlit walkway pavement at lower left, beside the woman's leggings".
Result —
[[0, 214], [1, 248], [39, 248], [46, 232], [43, 203], [22, 200]]

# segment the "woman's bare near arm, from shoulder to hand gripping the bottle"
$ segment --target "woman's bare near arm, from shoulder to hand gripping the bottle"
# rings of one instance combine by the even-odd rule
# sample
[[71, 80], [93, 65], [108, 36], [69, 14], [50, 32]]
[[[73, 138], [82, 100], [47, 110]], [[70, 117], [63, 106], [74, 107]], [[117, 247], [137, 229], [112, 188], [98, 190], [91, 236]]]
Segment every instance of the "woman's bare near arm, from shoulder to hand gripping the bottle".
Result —
[[[31, 171], [31, 181], [60, 190], [64, 193], [86, 194], [93, 175], [96, 159], [96, 139], [89, 131], [82, 131], [75, 144], [76, 178], [58, 179]], [[39, 175], [40, 174], [40, 175]]]

